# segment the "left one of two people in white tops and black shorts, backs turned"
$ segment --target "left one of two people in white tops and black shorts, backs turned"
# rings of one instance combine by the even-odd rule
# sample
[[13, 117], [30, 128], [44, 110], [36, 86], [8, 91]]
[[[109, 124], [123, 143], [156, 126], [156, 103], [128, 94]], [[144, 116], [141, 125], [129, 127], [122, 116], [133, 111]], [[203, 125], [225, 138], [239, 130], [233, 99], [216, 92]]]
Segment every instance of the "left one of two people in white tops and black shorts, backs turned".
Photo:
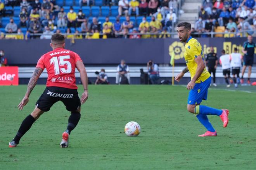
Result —
[[[221, 51], [221, 56], [220, 56], [220, 65], [222, 68], [223, 76], [225, 78], [225, 82], [227, 83], [227, 87], [230, 87], [230, 84], [228, 82], [228, 79], [230, 79], [230, 55], [225, 54], [225, 50], [223, 49]], [[230, 83], [232, 83], [230, 81]]]

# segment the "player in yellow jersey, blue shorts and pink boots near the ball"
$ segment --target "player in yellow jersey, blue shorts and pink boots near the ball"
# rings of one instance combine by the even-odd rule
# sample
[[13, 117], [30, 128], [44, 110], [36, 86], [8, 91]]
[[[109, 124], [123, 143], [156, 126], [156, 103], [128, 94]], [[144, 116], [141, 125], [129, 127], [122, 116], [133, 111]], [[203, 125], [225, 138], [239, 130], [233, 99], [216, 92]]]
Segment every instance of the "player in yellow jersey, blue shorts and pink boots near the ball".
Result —
[[187, 89], [190, 90], [187, 110], [195, 114], [199, 122], [207, 129], [206, 133], [199, 135], [200, 137], [217, 136], [207, 115], [220, 116], [221, 121], [223, 121], [223, 127], [226, 128], [228, 125], [228, 110], [200, 105], [202, 100], [207, 100], [208, 88], [211, 84], [211, 75], [206, 70], [204, 63], [204, 53], [201, 44], [190, 36], [191, 24], [189, 22], [179, 23], [177, 25], [177, 33], [180, 42], [185, 44], [184, 57], [187, 67], [175, 77], [175, 80], [179, 82], [185, 73], [190, 72], [191, 81], [187, 85]]

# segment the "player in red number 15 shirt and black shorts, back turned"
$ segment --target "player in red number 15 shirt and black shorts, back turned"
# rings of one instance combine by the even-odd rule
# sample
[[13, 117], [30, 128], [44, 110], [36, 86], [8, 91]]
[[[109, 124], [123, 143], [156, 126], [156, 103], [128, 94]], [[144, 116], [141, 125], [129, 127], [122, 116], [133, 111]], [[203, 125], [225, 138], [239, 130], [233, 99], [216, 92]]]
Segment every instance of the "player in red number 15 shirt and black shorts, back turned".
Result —
[[[31, 128], [32, 124], [44, 113], [50, 110], [54, 103], [61, 101], [66, 106], [66, 109], [71, 112], [68, 119], [67, 129], [62, 134], [61, 147], [68, 147], [68, 139], [71, 131], [76, 127], [80, 120], [80, 106], [88, 99], [88, 78], [80, 56], [73, 51], [64, 49], [65, 37], [62, 34], [55, 33], [52, 35], [50, 46], [53, 51], [44, 54], [36, 65], [35, 71], [31, 76], [27, 92], [18, 105], [19, 110], [28, 103], [28, 98], [36, 82], [46, 68], [48, 73], [46, 88], [43, 94], [36, 102], [35, 110], [29, 114], [14, 137], [9, 143], [9, 147], [16, 147], [19, 144], [21, 137]], [[78, 96], [75, 68], [80, 72], [81, 82], [84, 92], [81, 100]]]

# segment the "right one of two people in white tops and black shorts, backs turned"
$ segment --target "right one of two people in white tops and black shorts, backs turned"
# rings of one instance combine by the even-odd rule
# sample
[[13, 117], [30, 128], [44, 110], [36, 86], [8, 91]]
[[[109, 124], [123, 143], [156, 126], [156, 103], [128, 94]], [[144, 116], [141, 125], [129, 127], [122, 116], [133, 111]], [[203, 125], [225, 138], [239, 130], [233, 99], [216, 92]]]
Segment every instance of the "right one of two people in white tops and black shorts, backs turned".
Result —
[[[242, 66], [243, 56], [237, 53], [237, 48], [234, 48], [234, 53], [230, 54], [230, 66], [232, 68], [233, 81], [235, 83], [235, 88], [237, 88], [237, 83], [240, 82], [239, 73], [240, 67]], [[237, 77], [235, 77], [237, 75]]]

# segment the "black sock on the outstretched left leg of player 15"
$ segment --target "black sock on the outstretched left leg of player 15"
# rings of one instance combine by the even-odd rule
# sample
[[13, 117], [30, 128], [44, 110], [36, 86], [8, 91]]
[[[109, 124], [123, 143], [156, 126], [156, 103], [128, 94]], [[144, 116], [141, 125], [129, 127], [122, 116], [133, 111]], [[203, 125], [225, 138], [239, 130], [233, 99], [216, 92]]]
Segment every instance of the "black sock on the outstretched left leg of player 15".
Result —
[[16, 134], [16, 136], [14, 137], [14, 141], [16, 143], [19, 143], [19, 140], [21, 139], [21, 137], [31, 128], [32, 124], [36, 121], [36, 119], [31, 116], [30, 114], [23, 120], [23, 122], [21, 123], [21, 126], [19, 127], [19, 130]]

